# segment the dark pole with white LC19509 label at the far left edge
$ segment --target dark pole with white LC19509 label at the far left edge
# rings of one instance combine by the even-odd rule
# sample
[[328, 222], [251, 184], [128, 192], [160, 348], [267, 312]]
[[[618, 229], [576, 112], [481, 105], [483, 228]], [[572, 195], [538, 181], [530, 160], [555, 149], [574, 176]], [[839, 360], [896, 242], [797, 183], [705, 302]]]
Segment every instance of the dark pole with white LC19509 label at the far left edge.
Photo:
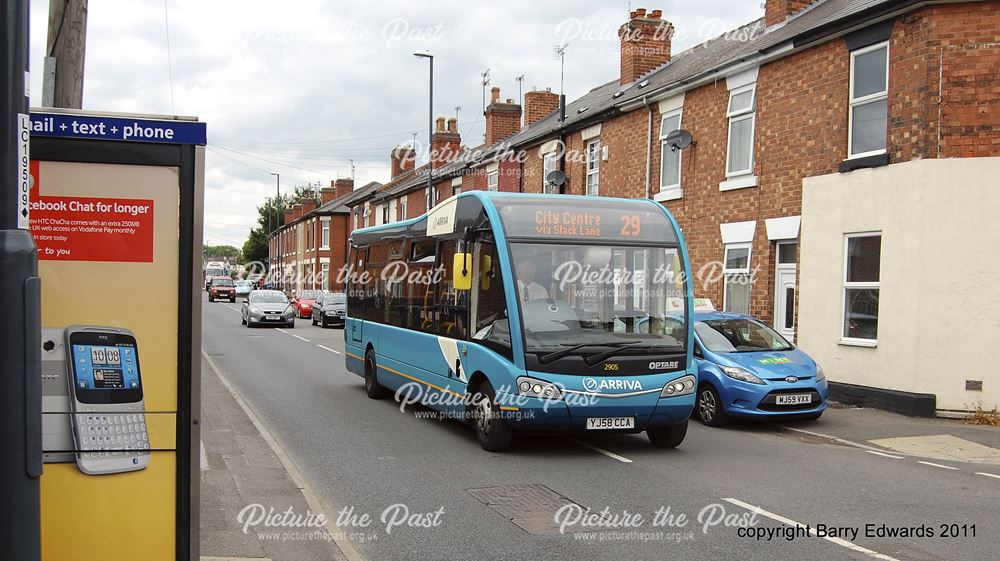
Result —
[[[41, 284], [28, 231], [28, 0], [0, 7], [0, 543], [4, 557], [41, 558]], [[68, 421], [67, 421], [68, 422]]]

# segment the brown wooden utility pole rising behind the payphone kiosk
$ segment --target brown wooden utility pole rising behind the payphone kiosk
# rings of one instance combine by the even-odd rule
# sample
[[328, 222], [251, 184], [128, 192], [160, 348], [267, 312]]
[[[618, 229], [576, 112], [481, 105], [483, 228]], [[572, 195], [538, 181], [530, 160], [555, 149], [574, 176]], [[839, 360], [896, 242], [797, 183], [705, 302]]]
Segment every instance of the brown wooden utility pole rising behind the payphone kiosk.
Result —
[[42, 104], [83, 106], [83, 62], [87, 46], [87, 0], [50, 0]]

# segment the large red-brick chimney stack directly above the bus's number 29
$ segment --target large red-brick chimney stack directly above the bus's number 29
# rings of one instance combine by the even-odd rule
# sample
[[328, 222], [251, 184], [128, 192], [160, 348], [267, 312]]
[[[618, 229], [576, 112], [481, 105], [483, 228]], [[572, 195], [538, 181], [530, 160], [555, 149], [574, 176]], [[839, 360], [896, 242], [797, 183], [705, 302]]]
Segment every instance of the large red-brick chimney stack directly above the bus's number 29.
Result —
[[621, 39], [621, 74], [619, 84], [631, 84], [640, 76], [670, 62], [670, 42], [674, 26], [661, 18], [663, 12], [636, 8], [629, 21], [618, 29]]

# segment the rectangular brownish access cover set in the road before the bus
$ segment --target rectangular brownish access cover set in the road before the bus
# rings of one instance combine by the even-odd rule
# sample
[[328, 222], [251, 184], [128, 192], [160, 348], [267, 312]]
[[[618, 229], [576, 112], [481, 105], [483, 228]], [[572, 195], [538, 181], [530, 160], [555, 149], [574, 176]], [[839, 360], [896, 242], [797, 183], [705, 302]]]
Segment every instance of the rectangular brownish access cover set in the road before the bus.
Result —
[[[559, 525], [555, 522], [555, 514], [560, 508], [576, 503], [545, 485], [502, 485], [500, 487], [483, 487], [467, 489], [468, 493], [486, 506], [499, 512], [517, 527], [529, 534], [558, 534]], [[585, 507], [580, 507], [586, 510]], [[609, 529], [607, 527], [603, 529]], [[592, 528], [571, 526], [566, 532], [592, 532]]]

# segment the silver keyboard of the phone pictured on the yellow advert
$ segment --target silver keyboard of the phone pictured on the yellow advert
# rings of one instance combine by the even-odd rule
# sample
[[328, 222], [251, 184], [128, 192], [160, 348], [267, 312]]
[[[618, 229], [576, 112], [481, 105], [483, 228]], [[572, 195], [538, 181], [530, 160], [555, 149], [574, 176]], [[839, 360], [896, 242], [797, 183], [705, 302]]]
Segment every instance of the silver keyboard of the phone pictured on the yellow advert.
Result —
[[119, 458], [149, 454], [146, 417], [142, 413], [77, 416], [80, 456]]

